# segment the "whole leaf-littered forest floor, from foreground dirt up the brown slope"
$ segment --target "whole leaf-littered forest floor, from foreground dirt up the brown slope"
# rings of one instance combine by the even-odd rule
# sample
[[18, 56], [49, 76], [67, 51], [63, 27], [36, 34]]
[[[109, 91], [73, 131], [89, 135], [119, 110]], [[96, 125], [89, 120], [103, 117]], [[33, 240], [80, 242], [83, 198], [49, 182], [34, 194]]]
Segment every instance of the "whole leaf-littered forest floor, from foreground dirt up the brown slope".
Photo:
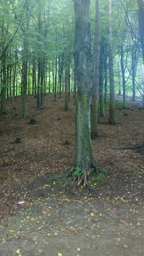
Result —
[[[28, 96], [6, 101], [0, 116], [0, 255], [1, 256], [143, 256], [144, 156], [132, 149], [144, 140], [142, 102], [128, 108], [116, 103], [117, 125], [100, 119], [93, 155], [109, 175], [94, 175], [89, 186], [68, 191], [67, 181], [52, 179], [72, 166], [75, 110], [64, 95], [47, 94], [44, 110]], [[120, 99], [119, 99], [120, 100]], [[30, 119], [37, 124], [29, 124]], [[13, 143], [20, 138], [20, 143]], [[65, 141], [69, 145], [65, 145]], [[18, 204], [25, 200], [24, 204]]]

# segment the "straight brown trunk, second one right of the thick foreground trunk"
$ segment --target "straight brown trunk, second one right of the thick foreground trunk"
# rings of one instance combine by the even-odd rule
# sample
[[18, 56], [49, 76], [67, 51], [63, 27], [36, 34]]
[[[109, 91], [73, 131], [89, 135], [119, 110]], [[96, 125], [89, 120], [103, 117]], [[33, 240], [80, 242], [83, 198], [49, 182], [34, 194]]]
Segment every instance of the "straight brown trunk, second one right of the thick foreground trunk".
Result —
[[[109, 15], [112, 15], [112, 0], [109, 0]], [[110, 42], [109, 42], [109, 77], [110, 77], [110, 116], [109, 124], [115, 125], [115, 87], [114, 87], [114, 68], [113, 68], [113, 45], [112, 45], [112, 24], [109, 26]]]

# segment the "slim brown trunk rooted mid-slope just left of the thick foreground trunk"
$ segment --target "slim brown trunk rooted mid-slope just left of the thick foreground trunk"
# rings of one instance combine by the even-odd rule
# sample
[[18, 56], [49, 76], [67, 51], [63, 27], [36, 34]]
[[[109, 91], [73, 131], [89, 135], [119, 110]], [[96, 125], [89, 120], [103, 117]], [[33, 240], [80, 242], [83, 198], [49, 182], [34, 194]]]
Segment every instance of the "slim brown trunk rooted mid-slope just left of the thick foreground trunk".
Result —
[[68, 77], [69, 77], [69, 55], [68, 51], [66, 52], [66, 69], [65, 69], [65, 102], [64, 102], [64, 110], [68, 111]]

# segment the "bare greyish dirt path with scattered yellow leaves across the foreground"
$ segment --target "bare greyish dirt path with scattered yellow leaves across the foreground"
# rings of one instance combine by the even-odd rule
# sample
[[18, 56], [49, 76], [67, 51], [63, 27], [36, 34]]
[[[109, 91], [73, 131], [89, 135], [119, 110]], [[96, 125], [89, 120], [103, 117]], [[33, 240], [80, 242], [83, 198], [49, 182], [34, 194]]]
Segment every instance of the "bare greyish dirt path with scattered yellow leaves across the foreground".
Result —
[[[141, 206], [83, 198], [40, 200], [1, 229], [2, 256], [143, 256]], [[9, 226], [8, 226], [9, 225]], [[1, 238], [2, 238], [1, 237]], [[81, 251], [77, 251], [80, 248]]]

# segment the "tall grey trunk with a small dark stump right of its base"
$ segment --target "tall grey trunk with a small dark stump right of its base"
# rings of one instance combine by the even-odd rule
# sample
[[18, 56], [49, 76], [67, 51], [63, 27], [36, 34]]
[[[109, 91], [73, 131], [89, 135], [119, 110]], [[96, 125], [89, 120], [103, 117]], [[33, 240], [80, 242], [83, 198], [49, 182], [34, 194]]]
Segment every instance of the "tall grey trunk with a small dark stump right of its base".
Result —
[[29, 0], [26, 0], [26, 29], [24, 32], [24, 73], [23, 73], [23, 114], [22, 118], [28, 117], [27, 112], [27, 75], [28, 75], [28, 30], [30, 23]]

